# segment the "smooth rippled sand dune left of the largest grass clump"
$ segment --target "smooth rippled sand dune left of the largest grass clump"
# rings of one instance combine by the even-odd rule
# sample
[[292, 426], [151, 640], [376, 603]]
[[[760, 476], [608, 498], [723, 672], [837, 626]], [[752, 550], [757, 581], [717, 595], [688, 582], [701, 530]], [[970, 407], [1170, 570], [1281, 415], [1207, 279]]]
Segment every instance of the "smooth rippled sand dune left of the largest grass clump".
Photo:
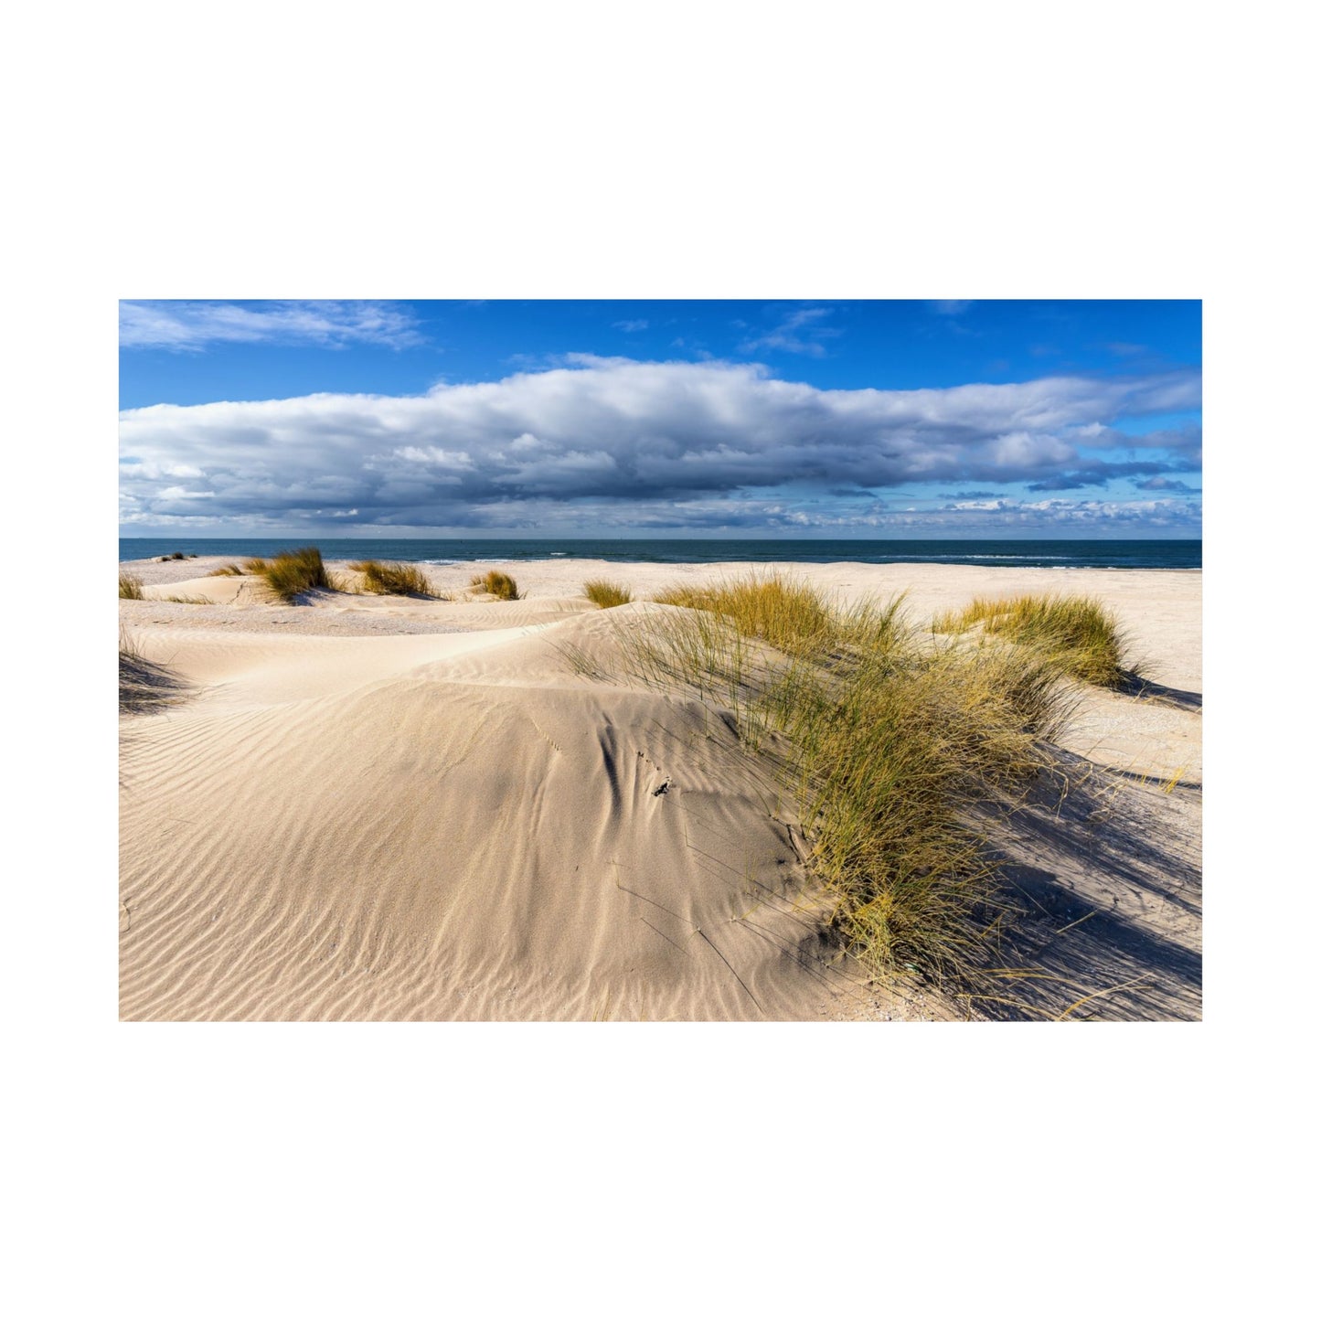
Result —
[[207, 687], [124, 758], [123, 1015], [820, 1012], [766, 790], [699, 705], [575, 680], [598, 625], [185, 639]]

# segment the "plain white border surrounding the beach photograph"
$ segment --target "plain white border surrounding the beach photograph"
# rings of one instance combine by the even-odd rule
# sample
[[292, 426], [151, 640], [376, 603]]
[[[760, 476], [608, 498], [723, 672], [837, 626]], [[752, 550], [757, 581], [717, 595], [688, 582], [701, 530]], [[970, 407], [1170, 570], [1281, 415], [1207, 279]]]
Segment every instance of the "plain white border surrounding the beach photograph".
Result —
[[[15, 1314], [1292, 1314], [1301, 12], [11, 16]], [[267, 296], [1205, 299], [1206, 1022], [119, 1024], [116, 300]]]

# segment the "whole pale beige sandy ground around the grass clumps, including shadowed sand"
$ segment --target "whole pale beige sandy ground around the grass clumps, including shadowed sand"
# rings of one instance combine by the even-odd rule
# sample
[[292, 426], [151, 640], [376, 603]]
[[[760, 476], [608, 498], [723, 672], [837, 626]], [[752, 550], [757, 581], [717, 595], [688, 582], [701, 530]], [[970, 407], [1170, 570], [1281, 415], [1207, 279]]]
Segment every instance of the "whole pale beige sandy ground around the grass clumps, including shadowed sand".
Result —
[[[1018, 918], [970, 999], [840, 955], [794, 804], [717, 715], [568, 659], [609, 670], [617, 627], [674, 609], [651, 593], [757, 565], [514, 563], [520, 601], [281, 605], [206, 576], [225, 563], [120, 565], [145, 596], [122, 626], [177, 686], [122, 717], [124, 1018], [1201, 1016], [1199, 572], [785, 567], [843, 602], [906, 590], [914, 618], [1094, 594], [1155, 680], [1082, 694], [1077, 787], [1015, 815]], [[486, 567], [428, 572], [462, 594]], [[593, 577], [635, 604], [600, 610]]]

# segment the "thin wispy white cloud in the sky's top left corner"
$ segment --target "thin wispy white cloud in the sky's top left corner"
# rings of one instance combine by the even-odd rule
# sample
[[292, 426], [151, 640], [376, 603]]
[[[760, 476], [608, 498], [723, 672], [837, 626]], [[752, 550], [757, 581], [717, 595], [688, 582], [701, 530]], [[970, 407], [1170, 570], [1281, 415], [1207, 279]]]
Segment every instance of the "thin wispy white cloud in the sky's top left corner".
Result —
[[420, 343], [415, 320], [388, 303], [120, 303], [124, 349], [198, 351], [209, 343]]

